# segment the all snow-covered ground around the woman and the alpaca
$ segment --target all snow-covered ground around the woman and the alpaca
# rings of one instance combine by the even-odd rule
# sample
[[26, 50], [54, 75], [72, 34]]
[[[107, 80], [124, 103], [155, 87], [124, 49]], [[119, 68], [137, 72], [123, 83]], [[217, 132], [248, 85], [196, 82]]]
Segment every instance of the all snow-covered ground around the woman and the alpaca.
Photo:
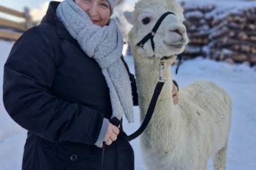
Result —
[[[9, 55], [11, 42], [0, 40], [0, 83], [3, 79], [3, 65]], [[134, 73], [133, 58], [125, 57], [130, 70]], [[172, 73], [176, 66], [172, 67]], [[180, 87], [187, 86], [193, 80], [208, 79], [218, 83], [228, 91], [233, 100], [233, 118], [230, 137], [228, 141], [228, 170], [255, 170], [256, 169], [256, 68], [247, 65], [228, 65], [224, 62], [210, 61], [196, 58], [184, 61], [174, 79]], [[0, 90], [2, 96], [2, 88]], [[0, 169], [21, 169], [23, 146], [26, 141], [26, 130], [20, 128], [3, 107], [2, 97], [0, 102]], [[124, 122], [127, 134], [139, 128], [139, 108], [134, 107], [135, 122]], [[146, 169], [143, 164], [139, 138], [131, 141], [135, 152], [135, 169]], [[212, 162], [208, 162], [208, 170]]]

